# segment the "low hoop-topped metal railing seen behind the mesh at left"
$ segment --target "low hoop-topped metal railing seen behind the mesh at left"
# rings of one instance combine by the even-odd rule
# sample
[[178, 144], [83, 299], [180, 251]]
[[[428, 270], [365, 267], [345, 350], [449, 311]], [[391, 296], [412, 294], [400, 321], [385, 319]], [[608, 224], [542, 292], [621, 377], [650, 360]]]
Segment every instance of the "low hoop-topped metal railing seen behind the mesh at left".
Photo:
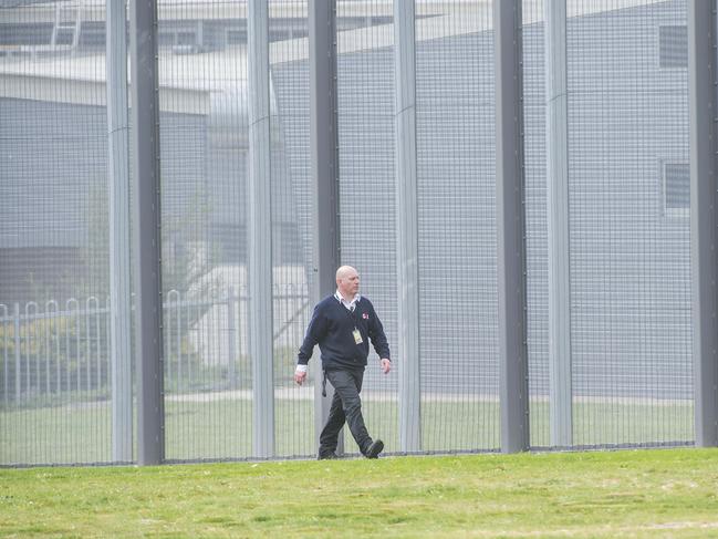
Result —
[[[251, 387], [247, 321], [240, 314], [247, 293], [228, 288], [212, 301], [197, 301], [171, 290], [166, 298], [165, 391]], [[293, 360], [288, 352], [302, 339], [293, 322], [308, 308], [306, 287], [275, 286], [274, 304], [282, 318], [273, 335], [275, 354]], [[55, 300], [0, 304], [0, 406], [110, 398], [110, 298], [94, 296], [62, 305]], [[219, 376], [202, 375], [208, 371]]]

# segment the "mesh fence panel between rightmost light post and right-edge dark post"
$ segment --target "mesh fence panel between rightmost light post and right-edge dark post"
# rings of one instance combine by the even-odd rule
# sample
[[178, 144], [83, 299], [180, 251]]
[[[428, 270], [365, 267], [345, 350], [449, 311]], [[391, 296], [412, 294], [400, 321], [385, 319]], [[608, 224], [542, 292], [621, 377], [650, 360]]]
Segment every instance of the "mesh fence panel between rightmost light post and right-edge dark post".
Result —
[[568, 2], [574, 445], [693, 440], [686, 9]]

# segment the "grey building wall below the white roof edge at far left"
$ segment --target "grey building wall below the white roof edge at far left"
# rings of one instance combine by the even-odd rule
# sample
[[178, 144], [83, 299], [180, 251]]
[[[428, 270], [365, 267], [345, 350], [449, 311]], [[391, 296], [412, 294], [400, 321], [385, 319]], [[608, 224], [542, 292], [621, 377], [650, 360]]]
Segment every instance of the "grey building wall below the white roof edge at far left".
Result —
[[86, 241], [87, 195], [107, 175], [104, 115], [0, 100], [0, 249]]

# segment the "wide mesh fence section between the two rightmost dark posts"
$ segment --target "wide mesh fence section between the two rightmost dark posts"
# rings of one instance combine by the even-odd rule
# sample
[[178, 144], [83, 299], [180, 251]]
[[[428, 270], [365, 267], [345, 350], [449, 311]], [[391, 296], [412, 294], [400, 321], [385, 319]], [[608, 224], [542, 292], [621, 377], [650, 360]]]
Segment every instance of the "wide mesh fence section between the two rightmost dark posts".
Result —
[[[569, 445], [690, 442], [686, 2], [569, 1], [563, 21], [548, 7], [523, 2], [531, 445], [561, 445], [562, 384]], [[565, 41], [549, 39], [561, 24]], [[550, 124], [562, 99], [565, 139]], [[561, 307], [550, 281], [564, 263]]]

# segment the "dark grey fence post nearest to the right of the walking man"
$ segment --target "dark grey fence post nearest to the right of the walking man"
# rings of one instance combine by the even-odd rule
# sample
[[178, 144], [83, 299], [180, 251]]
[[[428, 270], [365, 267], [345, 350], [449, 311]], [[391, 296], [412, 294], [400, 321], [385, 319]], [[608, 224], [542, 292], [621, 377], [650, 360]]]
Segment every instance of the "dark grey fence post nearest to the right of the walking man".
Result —
[[521, 0], [493, 2], [501, 450], [529, 448]]

